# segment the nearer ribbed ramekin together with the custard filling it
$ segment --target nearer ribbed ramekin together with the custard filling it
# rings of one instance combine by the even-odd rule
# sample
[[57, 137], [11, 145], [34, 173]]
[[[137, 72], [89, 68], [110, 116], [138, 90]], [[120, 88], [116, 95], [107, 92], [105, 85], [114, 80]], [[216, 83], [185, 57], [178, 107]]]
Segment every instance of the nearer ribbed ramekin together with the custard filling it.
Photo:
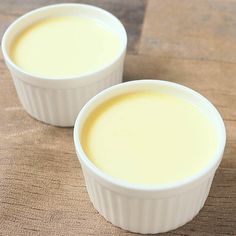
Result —
[[[200, 125], [204, 119], [212, 133], [208, 125]], [[76, 153], [94, 207], [115, 226], [143, 234], [173, 230], [198, 214], [225, 142], [223, 120], [205, 97], [158, 80], [126, 82], [102, 91], [83, 107], [74, 126]], [[203, 149], [208, 150], [207, 160]], [[181, 153], [187, 154], [185, 160]]]

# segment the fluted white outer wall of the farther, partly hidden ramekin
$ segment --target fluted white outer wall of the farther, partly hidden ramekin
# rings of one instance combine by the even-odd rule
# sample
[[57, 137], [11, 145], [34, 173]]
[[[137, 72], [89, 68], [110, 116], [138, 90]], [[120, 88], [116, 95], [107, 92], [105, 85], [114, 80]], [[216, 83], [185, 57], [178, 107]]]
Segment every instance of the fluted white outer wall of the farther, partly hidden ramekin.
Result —
[[97, 81], [65, 89], [30, 84], [13, 73], [12, 77], [20, 101], [32, 117], [52, 125], [73, 126], [83, 105], [103, 89], [121, 83], [122, 74], [123, 61]]

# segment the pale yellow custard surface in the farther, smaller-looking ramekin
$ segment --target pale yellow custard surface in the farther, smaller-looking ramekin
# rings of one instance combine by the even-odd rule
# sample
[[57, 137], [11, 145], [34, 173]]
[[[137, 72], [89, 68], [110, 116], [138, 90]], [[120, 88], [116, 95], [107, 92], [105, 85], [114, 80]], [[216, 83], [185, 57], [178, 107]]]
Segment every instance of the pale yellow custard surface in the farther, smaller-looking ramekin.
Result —
[[80, 16], [41, 20], [13, 41], [12, 61], [36, 76], [67, 78], [94, 72], [112, 62], [119, 36], [104, 23]]

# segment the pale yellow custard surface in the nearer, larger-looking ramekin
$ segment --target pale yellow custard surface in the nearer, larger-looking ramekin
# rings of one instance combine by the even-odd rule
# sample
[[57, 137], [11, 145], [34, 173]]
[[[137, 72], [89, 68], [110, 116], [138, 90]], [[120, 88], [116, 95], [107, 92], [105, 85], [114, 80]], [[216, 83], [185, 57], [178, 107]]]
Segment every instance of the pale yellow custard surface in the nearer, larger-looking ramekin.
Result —
[[203, 111], [173, 95], [138, 91], [101, 104], [80, 137], [88, 158], [129, 183], [165, 184], [203, 169], [218, 138]]

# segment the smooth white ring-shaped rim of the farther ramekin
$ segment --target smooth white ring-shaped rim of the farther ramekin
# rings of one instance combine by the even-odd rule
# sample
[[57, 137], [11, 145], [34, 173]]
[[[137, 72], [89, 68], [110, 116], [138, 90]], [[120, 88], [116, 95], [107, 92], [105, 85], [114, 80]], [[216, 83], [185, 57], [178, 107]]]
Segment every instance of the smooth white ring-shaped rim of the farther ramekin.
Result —
[[[29, 17], [30, 15], [33, 15], [37, 12], [40, 11], [45, 11], [47, 9], [51, 9], [51, 8], [57, 8], [57, 7], [66, 7], [66, 6], [81, 6], [81, 7], [88, 7], [88, 8], [93, 8], [96, 9], [97, 11], [103, 12], [104, 14], [112, 17], [120, 26], [120, 28], [122, 29], [123, 33], [124, 33], [124, 38], [121, 40], [122, 42], [122, 46], [120, 48], [120, 52], [116, 55], [116, 57], [109, 62], [108, 64], [105, 64], [104, 66], [100, 67], [97, 70], [94, 70], [92, 72], [88, 72], [88, 73], [83, 73], [83, 74], [79, 74], [77, 76], [71, 76], [71, 77], [63, 77], [63, 78], [54, 78], [54, 77], [45, 77], [45, 76], [39, 76], [36, 74], [32, 74], [29, 73], [25, 70], [23, 70], [22, 68], [20, 68], [19, 66], [17, 66], [11, 59], [11, 57], [9, 56], [9, 53], [6, 50], [6, 41], [7, 41], [7, 37], [9, 32], [11, 31], [11, 29], [18, 24], [18, 22], [20, 22], [22, 19]], [[120, 37], [120, 36], [119, 36]], [[41, 81], [75, 81], [75, 80], [82, 80], [82, 79], [87, 79], [88, 77], [93, 77], [96, 74], [100, 74], [103, 73], [104, 71], [106, 71], [107, 69], [109, 69], [112, 65], [114, 65], [117, 61], [119, 61], [119, 59], [122, 57], [122, 55], [124, 54], [124, 52], [126, 51], [127, 48], [127, 32], [126, 29], [124, 27], [124, 25], [122, 24], [122, 22], [112, 13], [110, 13], [109, 11], [94, 6], [94, 5], [90, 5], [90, 4], [84, 4], [84, 3], [58, 3], [58, 4], [50, 4], [50, 5], [46, 5], [43, 7], [39, 7], [36, 9], [33, 9], [25, 14], [23, 14], [22, 16], [18, 17], [16, 20], [14, 20], [5, 30], [3, 36], [2, 36], [2, 44], [1, 44], [1, 48], [2, 48], [2, 52], [3, 52], [3, 57], [6, 60], [6, 62], [11, 65], [16, 71], [20, 72], [21, 74], [28, 76], [30, 78], [34, 78], [37, 80], [41, 80]]]

